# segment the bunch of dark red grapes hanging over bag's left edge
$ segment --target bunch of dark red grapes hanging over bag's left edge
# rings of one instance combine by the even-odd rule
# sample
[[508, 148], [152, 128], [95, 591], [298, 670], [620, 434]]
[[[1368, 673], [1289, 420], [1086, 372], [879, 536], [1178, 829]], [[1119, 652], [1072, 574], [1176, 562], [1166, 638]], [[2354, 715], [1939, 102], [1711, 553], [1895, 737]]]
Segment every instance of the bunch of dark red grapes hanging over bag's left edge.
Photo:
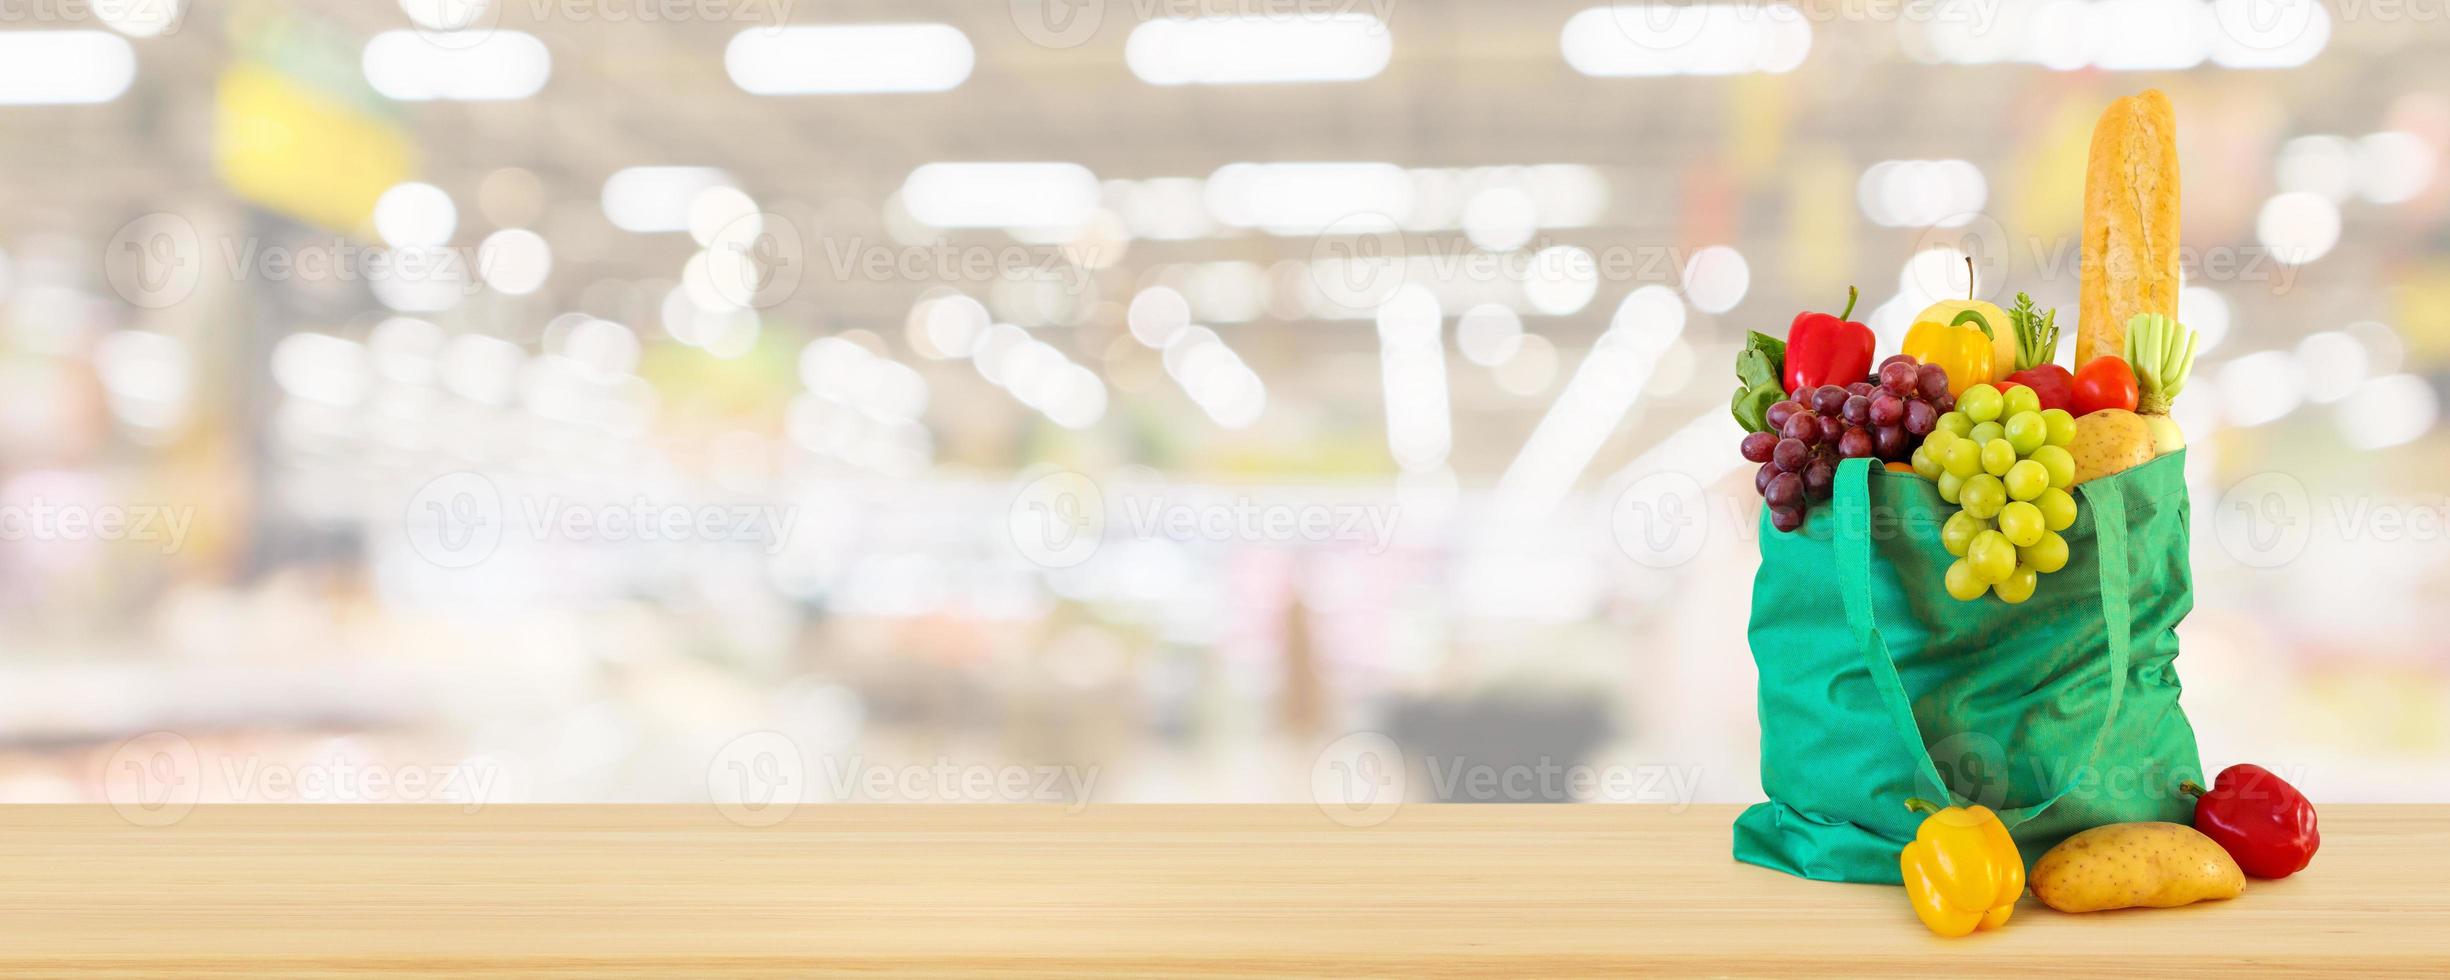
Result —
[[1909, 355], [1882, 360], [1855, 385], [1808, 387], [1771, 404], [1769, 431], [1744, 436], [1744, 458], [1762, 463], [1752, 485], [1769, 502], [1769, 527], [1803, 527], [1803, 510], [1830, 497], [1842, 458], [1906, 461], [1955, 407], [1948, 372]]

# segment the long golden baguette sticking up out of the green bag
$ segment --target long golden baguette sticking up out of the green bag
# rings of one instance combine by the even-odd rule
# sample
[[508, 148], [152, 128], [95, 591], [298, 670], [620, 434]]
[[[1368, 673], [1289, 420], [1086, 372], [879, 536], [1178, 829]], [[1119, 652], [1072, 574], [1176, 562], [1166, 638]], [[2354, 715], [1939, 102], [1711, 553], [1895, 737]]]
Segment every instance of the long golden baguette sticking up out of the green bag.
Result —
[[2124, 355], [2136, 314], [2178, 316], [2178, 118], [2158, 88], [2092, 125], [2082, 247], [2075, 368]]

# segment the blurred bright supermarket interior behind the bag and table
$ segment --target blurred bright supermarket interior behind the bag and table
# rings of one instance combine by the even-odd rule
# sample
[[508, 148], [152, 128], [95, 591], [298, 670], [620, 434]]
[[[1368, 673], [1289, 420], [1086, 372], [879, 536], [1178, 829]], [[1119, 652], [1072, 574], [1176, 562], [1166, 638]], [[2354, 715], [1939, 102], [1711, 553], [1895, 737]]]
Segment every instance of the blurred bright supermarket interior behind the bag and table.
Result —
[[2205, 762], [2450, 799], [2450, 7], [1593, 2], [10, 2], [0, 799], [1749, 801], [1744, 331], [2151, 86]]

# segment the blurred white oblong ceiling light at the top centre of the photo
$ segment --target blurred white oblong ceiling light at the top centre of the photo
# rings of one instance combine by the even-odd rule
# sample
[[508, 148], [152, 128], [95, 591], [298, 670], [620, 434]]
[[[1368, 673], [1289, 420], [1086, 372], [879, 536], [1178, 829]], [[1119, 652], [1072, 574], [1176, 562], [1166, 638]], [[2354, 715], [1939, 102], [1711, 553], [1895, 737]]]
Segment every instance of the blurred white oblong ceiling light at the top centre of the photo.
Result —
[[1387, 71], [1394, 39], [1370, 15], [1159, 17], [1132, 27], [1122, 59], [1152, 86], [1362, 81]]

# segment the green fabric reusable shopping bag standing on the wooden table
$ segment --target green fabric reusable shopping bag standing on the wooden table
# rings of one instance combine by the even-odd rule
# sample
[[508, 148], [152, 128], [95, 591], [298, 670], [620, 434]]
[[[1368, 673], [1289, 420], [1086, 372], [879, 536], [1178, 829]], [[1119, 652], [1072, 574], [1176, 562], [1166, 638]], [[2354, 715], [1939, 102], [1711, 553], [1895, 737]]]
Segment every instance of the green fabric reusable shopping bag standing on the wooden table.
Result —
[[1845, 461], [1803, 529], [1764, 510], [1749, 635], [1769, 801], [1735, 821], [1737, 860], [1899, 884], [1923, 821], [1909, 796], [1999, 811], [2029, 865], [2102, 823], [2190, 821], [2185, 453], [2075, 490], [2068, 566], [2024, 605], [1948, 595], [1955, 505], [1918, 475]]

